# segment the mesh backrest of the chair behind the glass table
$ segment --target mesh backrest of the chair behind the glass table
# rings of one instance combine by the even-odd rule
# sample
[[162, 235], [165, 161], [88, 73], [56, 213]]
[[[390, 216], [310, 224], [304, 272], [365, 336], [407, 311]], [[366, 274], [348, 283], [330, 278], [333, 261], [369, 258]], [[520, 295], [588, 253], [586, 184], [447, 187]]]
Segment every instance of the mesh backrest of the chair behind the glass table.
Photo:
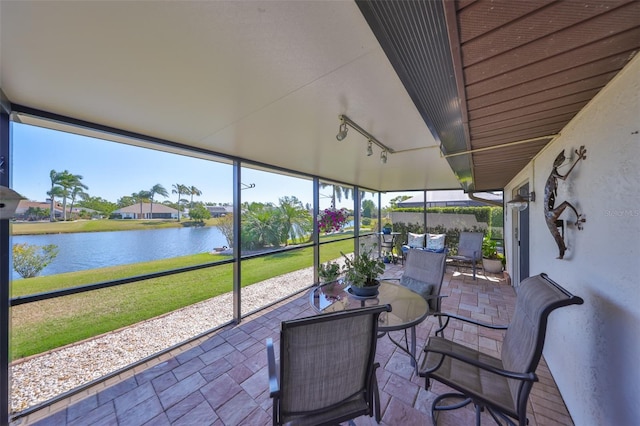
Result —
[[411, 249], [407, 253], [404, 273], [400, 278], [403, 285], [427, 299], [429, 312], [440, 312], [440, 289], [446, 270], [447, 253]]

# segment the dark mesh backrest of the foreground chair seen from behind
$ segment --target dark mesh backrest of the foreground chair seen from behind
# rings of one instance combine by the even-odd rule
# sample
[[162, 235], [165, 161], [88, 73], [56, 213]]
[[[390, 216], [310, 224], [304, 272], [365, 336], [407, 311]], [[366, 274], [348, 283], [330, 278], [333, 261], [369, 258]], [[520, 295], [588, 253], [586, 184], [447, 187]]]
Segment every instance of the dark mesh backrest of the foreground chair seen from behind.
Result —
[[282, 323], [282, 420], [371, 397], [378, 317], [390, 310], [373, 306]]

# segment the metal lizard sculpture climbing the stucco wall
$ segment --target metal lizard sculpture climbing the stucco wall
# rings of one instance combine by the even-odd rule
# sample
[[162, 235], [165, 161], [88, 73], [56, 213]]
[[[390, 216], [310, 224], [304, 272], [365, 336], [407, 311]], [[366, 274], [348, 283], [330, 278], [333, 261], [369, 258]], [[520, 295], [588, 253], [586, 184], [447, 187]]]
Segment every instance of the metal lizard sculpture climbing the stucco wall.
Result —
[[558, 259], [564, 258], [564, 253], [567, 250], [567, 246], [564, 243], [564, 235], [560, 234], [560, 231], [558, 230], [558, 222], [562, 222], [558, 220], [560, 215], [567, 209], [567, 207], [573, 210], [573, 213], [576, 215], [575, 224], [578, 229], [582, 229], [582, 224], [587, 221], [584, 214], [579, 214], [573, 204], [568, 201], [563, 201], [558, 205], [558, 207], [555, 206], [556, 196], [558, 195], [558, 179], [566, 180], [567, 176], [569, 176], [569, 173], [571, 173], [578, 162], [587, 158], [587, 150], [584, 145], [582, 145], [579, 150], [576, 150], [575, 153], [578, 158], [576, 158], [576, 161], [571, 165], [569, 171], [564, 175], [558, 171], [558, 168], [560, 168], [562, 163], [566, 160], [566, 157], [564, 156], [564, 149], [560, 154], [558, 154], [556, 159], [553, 161], [553, 169], [547, 179], [547, 183], [544, 185], [544, 216], [545, 221], [547, 222], [547, 227], [549, 228], [549, 231], [551, 231], [551, 235], [554, 240], [556, 240], [558, 250], [560, 251], [560, 255], [557, 257]]

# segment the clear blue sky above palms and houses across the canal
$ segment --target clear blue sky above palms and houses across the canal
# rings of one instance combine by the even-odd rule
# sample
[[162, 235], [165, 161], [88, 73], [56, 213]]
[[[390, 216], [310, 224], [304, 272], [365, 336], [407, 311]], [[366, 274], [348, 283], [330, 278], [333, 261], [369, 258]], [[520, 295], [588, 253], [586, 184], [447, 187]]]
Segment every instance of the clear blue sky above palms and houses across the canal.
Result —
[[[51, 189], [50, 171], [68, 170], [82, 176], [89, 195], [112, 202], [148, 191], [156, 184], [169, 193], [167, 198], [157, 195], [155, 200], [159, 202], [177, 201], [177, 195], [172, 194], [174, 184], [198, 188], [202, 195], [194, 197], [194, 201], [216, 204], [233, 201], [230, 165], [16, 122], [12, 126], [11, 186], [29, 200], [45, 201]], [[304, 204], [312, 204], [310, 180], [246, 167], [241, 175], [243, 184], [255, 184], [255, 188], [242, 192], [243, 201], [277, 203], [281, 197], [295, 195]], [[320, 192], [323, 207], [329, 194], [322, 189]], [[397, 195], [383, 194], [382, 206]], [[352, 204], [343, 200], [338, 207], [352, 208]]]

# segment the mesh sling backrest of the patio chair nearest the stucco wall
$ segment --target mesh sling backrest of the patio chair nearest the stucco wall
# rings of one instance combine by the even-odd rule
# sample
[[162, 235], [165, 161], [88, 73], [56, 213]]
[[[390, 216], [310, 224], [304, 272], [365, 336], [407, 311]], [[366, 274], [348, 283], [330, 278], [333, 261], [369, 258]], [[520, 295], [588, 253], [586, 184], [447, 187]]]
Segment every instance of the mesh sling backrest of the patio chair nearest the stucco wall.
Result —
[[[582, 303], [580, 297], [568, 293], [546, 274], [524, 280], [518, 288], [513, 319], [502, 342], [504, 368], [535, 373], [542, 356], [549, 314], [557, 308]], [[514, 406], [518, 407], [518, 396], [522, 396], [520, 387], [524, 382], [508, 380]]]

